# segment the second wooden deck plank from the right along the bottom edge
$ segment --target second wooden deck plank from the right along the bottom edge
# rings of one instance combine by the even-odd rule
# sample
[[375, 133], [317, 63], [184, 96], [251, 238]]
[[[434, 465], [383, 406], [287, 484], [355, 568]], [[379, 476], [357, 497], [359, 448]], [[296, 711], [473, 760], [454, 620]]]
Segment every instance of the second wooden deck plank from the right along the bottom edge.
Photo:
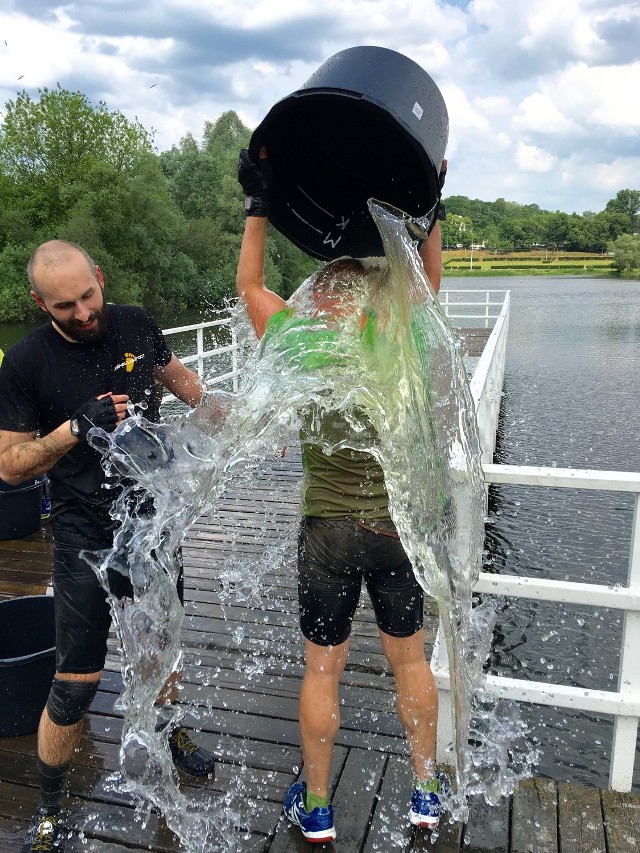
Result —
[[558, 785], [558, 836], [560, 850], [606, 853], [600, 793], [596, 788], [567, 782]]

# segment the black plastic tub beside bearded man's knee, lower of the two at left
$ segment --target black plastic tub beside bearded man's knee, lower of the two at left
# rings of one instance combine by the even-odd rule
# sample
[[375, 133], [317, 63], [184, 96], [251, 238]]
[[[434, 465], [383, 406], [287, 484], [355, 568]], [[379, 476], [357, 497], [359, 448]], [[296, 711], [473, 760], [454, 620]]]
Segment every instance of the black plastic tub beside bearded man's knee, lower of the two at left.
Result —
[[0, 737], [37, 731], [55, 666], [53, 598], [0, 601]]

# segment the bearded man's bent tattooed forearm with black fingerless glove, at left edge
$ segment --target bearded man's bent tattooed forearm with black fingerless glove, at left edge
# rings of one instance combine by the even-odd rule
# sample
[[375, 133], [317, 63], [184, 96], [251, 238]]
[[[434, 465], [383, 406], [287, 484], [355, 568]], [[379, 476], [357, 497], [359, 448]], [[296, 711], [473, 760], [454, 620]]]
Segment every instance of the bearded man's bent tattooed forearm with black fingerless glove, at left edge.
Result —
[[41, 438], [37, 432], [0, 430], [0, 479], [17, 486], [44, 474], [83, 441], [92, 426], [112, 432], [125, 416], [128, 399], [126, 394], [104, 394], [88, 400], [69, 420]]

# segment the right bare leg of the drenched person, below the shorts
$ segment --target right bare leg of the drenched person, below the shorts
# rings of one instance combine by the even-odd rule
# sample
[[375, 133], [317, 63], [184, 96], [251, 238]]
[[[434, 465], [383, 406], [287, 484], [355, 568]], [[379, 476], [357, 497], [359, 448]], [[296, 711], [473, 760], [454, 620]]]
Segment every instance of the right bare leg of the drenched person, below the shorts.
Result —
[[382, 649], [396, 682], [398, 716], [420, 781], [433, 776], [438, 728], [438, 691], [424, 654], [424, 632], [391, 637], [380, 631]]

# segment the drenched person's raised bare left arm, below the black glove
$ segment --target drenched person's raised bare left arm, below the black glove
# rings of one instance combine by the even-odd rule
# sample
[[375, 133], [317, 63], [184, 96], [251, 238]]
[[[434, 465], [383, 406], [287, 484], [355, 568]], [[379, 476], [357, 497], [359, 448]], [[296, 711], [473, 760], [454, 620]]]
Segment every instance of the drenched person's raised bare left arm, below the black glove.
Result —
[[263, 336], [269, 317], [287, 307], [281, 296], [265, 287], [266, 242], [266, 217], [247, 216], [238, 259], [236, 287], [258, 338]]

